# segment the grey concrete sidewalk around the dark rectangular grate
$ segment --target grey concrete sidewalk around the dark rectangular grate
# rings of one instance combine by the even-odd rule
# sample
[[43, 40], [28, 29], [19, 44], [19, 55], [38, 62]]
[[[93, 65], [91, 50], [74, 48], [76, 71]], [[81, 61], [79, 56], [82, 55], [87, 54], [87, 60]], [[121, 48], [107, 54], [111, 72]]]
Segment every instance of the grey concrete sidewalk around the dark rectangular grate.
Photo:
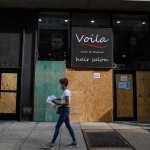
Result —
[[[40, 150], [54, 132], [54, 123], [0, 122], [0, 150]], [[81, 129], [116, 130], [136, 150], [150, 150], [150, 125], [121, 123], [81, 123], [73, 124], [79, 147], [68, 148], [70, 136], [63, 126], [57, 139], [55, 150], [87, 150]], [[92, 150], [110, 150], [112, 148], [92, 148]], [[121, 148], [113, 148], [113, 150]], [[122, 148], [122, 150], [125, 150]]]

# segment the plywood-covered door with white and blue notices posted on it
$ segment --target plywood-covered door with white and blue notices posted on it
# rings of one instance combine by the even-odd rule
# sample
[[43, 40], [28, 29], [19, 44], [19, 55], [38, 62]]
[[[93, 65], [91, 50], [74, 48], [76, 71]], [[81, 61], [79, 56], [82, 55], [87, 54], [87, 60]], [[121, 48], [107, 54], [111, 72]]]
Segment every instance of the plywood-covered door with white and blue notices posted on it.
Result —
[[137, 119], [135, 79], [133, 72], [120, 71], [115, 73], [115, 120], [134, 121]]

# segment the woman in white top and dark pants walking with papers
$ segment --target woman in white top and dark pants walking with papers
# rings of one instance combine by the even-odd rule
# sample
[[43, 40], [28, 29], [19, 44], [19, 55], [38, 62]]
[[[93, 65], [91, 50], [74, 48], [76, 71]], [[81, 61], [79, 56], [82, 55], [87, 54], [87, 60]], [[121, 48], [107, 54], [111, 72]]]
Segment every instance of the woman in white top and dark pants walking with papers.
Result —
[[69, 144], [68, 146], [77, 146], [75, 134], [73, 131], [73, 128], [71, 127], [70, 124], [70, 97], [71, 97], [71, 91], [67, 88], [68, 87], [68, 79], [67, 78], [62, 78], [59, 80], [59, 83], [61, 85], [61, 88], [63, 90], [63, 94], [61, 98], [57, 98], [53, 100], [52, 102], [55, 103], [58, 107], [57, 113], [59, 114], [59, 119], [57, 121], [57, 124], [55, 126], [55, 132], [52, 138], [52, 141], [43, 147], [43, 149], [49, 149], [53, 148], [55, 145], [55, 141], [58, 137], [60, 127], [63, 123], [65, 123], [71, 138], [72, 138], [72, 143]]

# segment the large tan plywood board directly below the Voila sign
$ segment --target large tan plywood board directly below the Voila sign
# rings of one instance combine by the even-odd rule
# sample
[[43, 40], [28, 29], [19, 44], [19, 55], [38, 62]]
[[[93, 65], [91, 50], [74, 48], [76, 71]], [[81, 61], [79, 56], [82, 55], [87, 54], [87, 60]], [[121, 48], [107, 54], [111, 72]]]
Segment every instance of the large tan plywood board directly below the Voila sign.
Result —
[[[100, 78], [93, 78], [95, 72]], [[66, 69], [65, 76], [72, 91], [72, 121], [112, 121], [112, 70]]]

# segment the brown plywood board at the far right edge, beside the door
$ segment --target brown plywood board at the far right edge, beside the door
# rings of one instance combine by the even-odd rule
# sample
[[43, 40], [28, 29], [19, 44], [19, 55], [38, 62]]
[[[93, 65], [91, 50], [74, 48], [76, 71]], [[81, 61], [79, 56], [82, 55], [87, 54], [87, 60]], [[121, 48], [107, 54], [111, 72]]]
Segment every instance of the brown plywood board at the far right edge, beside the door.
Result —
[[150, 71], [137, 71], [136, 85], [138, 121], [150, 122]]

